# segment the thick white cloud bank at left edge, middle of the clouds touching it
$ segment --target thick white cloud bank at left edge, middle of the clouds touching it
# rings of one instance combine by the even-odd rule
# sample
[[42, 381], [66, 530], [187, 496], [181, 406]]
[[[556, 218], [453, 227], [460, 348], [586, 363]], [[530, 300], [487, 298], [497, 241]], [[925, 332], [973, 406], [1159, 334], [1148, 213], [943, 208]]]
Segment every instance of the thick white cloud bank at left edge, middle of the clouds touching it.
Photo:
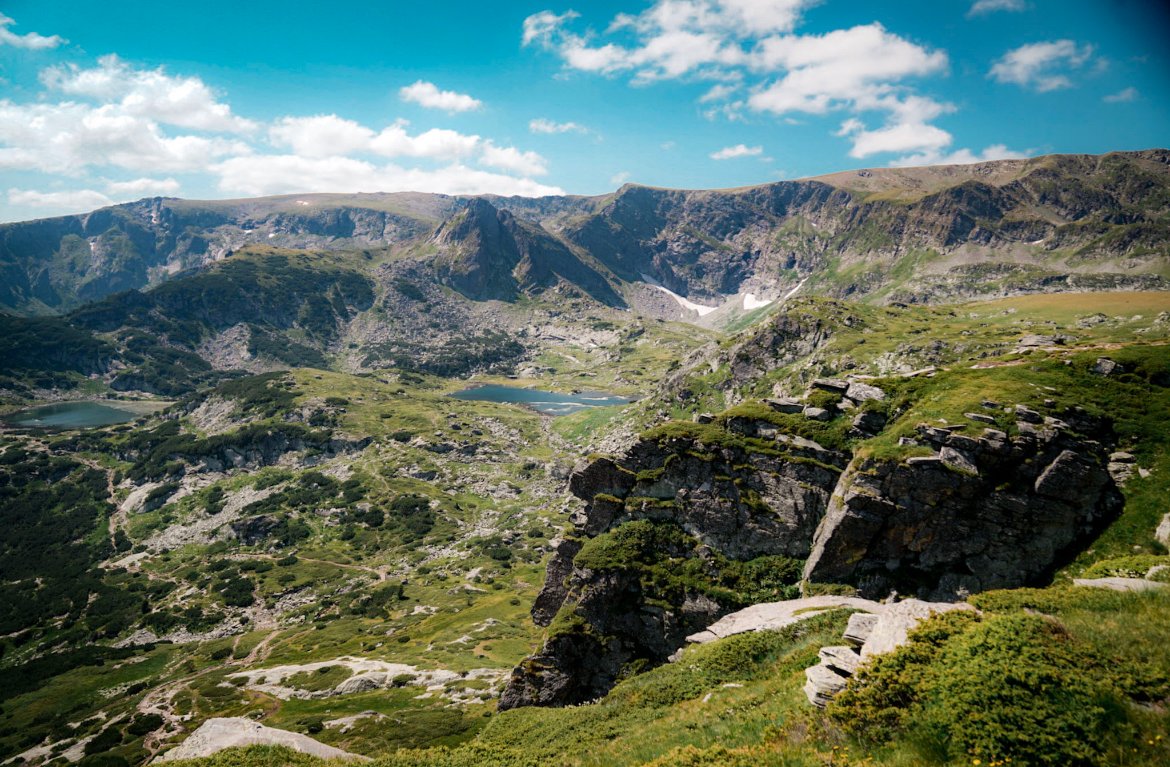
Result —
[[249, 151], [236, 140], [166, 136], [153, 120], [115, 105], [0, 101], [0, 168], [63, 175], [87, 167], [197, 171], [208, 160]]

